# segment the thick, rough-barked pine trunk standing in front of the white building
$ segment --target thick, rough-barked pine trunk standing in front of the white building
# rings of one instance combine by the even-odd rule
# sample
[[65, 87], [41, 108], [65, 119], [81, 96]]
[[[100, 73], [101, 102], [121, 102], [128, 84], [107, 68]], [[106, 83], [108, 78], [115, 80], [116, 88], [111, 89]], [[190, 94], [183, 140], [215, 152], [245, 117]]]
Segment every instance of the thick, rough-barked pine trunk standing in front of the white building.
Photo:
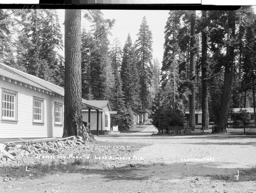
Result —
[[65, 98], [62, 137], [78, 136], [82, 125], [81, 10], [65, 10]]

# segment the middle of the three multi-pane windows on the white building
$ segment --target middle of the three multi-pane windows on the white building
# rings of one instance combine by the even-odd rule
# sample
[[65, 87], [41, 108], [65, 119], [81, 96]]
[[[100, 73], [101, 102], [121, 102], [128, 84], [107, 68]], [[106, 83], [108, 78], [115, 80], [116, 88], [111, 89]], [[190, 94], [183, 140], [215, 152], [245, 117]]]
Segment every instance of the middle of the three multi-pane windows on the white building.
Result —
[[44, 123], [44, 99], [33, 97], [33, 122]]

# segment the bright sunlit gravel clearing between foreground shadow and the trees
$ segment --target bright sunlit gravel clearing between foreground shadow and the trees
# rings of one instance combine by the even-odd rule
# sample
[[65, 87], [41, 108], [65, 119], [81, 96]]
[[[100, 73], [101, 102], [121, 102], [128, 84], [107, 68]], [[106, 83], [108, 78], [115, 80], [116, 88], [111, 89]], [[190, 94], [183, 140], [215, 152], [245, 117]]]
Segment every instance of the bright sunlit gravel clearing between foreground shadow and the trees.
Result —
[[[256, 165], [255, 136], [238, 134], [198, 136], [152, 136], [154, 126], [142, 129], [142, 133], [124, 133], [118, 137], [96, 137], [102, 142], [131, 142], [146, 144], [135, 152], [145, 163], [183, 163], [186, 161], [215, 163], [223, 168], [250, 168]], [[211, 158], [211, 159], [210, 159]], [[196, 160], [198, 159], [198, 160]]]

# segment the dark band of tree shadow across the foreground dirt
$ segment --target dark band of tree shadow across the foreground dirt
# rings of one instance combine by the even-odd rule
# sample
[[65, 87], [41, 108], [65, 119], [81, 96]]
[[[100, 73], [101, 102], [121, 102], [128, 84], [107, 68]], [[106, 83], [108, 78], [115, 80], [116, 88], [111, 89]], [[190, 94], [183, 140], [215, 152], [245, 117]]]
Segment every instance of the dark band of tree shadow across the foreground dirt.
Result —
[[[106, 168], [100, 162], [69, 163], [55, 165], [28, 165], [19, 167], [1, 167], [0, 176], [5, 178], [30, 178], [40, 179], [45, 176], [56, 174], [65, 175], [83, 174], [100, 175], [106, 181], [119, 180], [148, 180], [148, 179], [178, 179], [185, 177], [208, 177], [212, 180], [223, 180], [226, 182], [241, 182], [256, 180], [256, 168], [219, 168], [218, 162], [193, 162], [193, 163], [153, 163], [153, 164], [127, 164], [120, 168]], [[239, 180], [234, 177], [238, 174]]]

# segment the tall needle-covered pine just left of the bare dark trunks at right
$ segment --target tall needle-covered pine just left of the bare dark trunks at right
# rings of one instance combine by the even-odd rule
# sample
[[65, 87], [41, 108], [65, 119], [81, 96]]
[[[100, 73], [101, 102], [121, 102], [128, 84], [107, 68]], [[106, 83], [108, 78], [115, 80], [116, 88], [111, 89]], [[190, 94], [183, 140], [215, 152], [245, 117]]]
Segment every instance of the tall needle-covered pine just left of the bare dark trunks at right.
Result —
[[173, 109], [184, 111], [184, 95], [181, 87], [181, 67], [183, 66], [182, 49], [179, 46], [179, 31], [181, 30], [180, 11], [170, 11], [164, 31], [164, 55], [162, 61], [162, 94], [163, 103]]

